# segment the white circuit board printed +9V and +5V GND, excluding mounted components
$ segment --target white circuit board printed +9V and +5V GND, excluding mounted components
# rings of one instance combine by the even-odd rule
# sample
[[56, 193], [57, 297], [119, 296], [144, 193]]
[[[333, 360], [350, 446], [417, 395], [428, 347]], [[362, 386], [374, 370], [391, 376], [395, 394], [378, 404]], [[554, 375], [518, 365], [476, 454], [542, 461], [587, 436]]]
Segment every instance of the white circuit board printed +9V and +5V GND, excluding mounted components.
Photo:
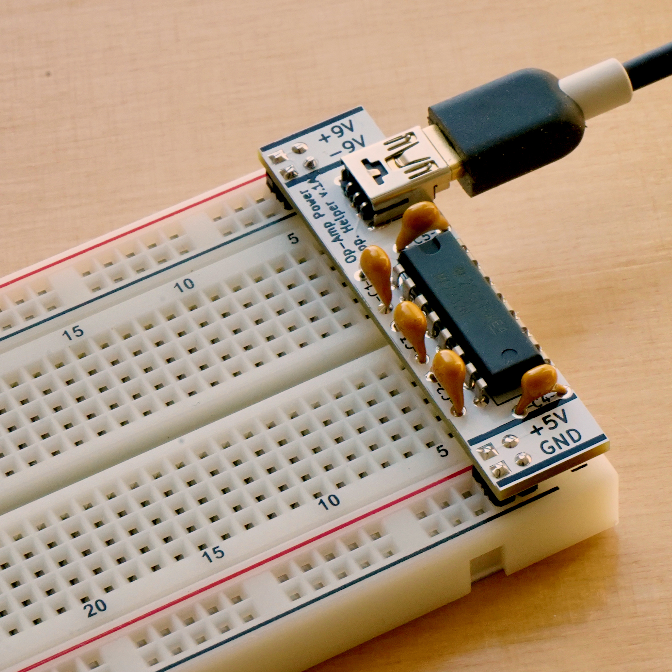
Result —
[[[341, 141], [335, 132], [339, 126], [341, 136], [352, 136], [353, 140]], [[327, 134], [331, 137], [323, 143], [321, 138]], [[576, 394], [569, 394], [566, 398], [544, 396], [534, 403], [534, 410], [519, 419], [511, 415], [515, 407], [513, 400], [519, 396], [519, 391], [503, 397], [491, 397], [485, 407], [478, 407], [474, 404], [476, 392], [466, 390], [466, 413], [462, 417], [451, 415], [452, 404], [443, 388], [427, 379], [431, 356], [444, 345], [438, 337], [428, 335], [429, 362], [419, 364], [413, 347], [400, 332], [392, 329], [392, 313], [383, 314], [378, 310], [380, 298], [366, 279], [360, 279], [358, 260], [367, 245], [382, 247], [392, 259], [392, 265], [396, 263], [397, 254], [393, 247], [398, 224], [373, 229], [366, 227], [341, 191], [341, 163], [337, 157], [343, 151], [349, 151], [355, 140], [357, 146], [364, 146], [378, 142], [382, 137], [382, 132], [370, 116], [362, 108], [355, 108], [304, 132], [264, 146], [259, 156], [288, 201], [296, 206], [333, 262], [341, 268], [388, 343], [407, 363], [421, 388], [431, 396], [474, 466], [499, 499], [523, 492], [545, 478], [608, 450], [607, 437]], [[281, 172], [284, 163], [273, 163], [269, 156], [282, 151], [292, 157], [292, 146], [296, 142], [304, 142], [308, 146], [307, 152], [319, 157], [323, 163], [316, 170], [301, 169], [297, 177], [288, 180]], [[329, 142], [333, 142], [333, 146]], [[337, 148], [341, 151], [333, 157], [329, 152]], [[435, 233], [427, 233], [417, 242], [429, 241]], [[462, 244], [462, 241], [459, 242]], [[396, 304], [404, 298], [407, 297], [403, 284], [394, 287], [392, 303]], [[560, 381], [566, 382], [561, 375]], [[503, 437], [512, 433], [518, 439], [517, 444], [514, 448], [503, 447]], [[518, 453], [528, 454], [530, 462], [518, 464], [515, 460]]]

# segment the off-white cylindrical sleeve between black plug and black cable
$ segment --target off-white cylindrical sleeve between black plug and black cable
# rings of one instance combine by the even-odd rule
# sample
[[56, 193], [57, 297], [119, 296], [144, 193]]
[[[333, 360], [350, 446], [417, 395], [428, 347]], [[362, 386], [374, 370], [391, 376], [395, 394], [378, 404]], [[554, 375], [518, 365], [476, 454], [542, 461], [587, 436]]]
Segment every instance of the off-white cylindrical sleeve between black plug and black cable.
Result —
[[616, 58], [563, 77], [558, 85], [576, 101], [586, 119], [609, 112], [632, 99], [630, 77]]

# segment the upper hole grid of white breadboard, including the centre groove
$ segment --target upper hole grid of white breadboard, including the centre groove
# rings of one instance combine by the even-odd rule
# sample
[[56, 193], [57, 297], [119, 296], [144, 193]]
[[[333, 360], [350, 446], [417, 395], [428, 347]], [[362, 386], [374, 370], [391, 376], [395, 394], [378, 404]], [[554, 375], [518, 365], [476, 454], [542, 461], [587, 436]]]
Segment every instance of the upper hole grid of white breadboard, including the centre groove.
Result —
[[298, 218], [264, 226], [0, 353], [0, 511], [376, 347]]

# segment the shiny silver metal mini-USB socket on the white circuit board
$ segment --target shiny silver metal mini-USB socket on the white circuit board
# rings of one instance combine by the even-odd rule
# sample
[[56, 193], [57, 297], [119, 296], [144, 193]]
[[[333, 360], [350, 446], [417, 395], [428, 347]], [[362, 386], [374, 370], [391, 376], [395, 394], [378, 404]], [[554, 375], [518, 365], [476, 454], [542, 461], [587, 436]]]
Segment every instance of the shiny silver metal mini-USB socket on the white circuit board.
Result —
[[413, 126], [342, 159], [341, 187], [368, 224], [401, 217], [460, 175], [460, 160], [434, 126]]

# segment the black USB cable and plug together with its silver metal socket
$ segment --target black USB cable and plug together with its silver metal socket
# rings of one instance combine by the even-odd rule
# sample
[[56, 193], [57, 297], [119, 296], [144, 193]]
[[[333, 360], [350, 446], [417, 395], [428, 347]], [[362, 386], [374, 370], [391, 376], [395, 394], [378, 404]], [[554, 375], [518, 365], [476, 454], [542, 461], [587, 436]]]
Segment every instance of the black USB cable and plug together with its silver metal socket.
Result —
[[386, 224], [459, 180], [476, 196], [557, 161], [583, 138], [585, 122], [632, 91], [672, 75], [672, 42], [620, 63], [609, 58], [558, 79], [519, 70], [429, 108], [414, 126], [343, 161], [343, 192], [369, 224]]

